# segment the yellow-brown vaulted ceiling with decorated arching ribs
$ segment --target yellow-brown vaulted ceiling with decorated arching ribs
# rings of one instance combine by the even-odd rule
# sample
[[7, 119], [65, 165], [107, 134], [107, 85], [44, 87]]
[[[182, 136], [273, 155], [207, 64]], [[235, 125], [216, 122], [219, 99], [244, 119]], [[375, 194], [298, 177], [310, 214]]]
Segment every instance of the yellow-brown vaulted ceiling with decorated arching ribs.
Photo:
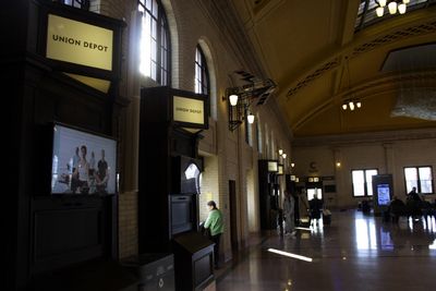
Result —
[[436, 5], [354, 33], [360, 2], [233, 0], [294, 137], [436, 126]]

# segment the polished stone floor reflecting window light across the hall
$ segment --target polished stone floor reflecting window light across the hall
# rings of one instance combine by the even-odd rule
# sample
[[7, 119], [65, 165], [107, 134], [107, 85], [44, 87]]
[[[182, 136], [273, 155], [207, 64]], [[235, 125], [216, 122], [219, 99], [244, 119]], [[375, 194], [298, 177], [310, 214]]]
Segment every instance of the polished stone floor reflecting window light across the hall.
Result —
[[358, 210], [338, 211], [330, 226], [299, 229], [295, 237], [271, 231], [216, 276], [218, 291], [436, 290], [436, 221], [392, 223]]

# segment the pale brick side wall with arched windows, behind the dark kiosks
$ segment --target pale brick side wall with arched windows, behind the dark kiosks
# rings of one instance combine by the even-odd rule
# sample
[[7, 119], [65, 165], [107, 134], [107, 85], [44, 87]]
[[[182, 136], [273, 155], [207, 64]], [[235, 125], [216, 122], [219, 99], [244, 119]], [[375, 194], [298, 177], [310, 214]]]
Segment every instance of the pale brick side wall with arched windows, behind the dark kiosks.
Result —
[[[228, 129], [228, 107], [222, 96], [227, 87], [231, 86], [229, 74], [235, 70], [244, 69], [254, 72], [256, 68], [251, 68], [250, 63], [244, 63], [244, 58], [235, 54], [235, 44], [229, 44], [226, 32], [221, 31], [206, 12], [202, 1], [174, 1], [162, 0], [167, 12], [167, 19], [171, 35], [171, 85], [174, 88], [193, 90], [194, 89], [194, 57], [195, 48], [202, 45], [203, 51], [208, 60], [209, 75], [213, 77], [213, 92], [210, 94], [214, 109], [214, 120], [208, 131], [204, 131], [204, 140], [201, 141], [199, 148], [205, 155], [205, 171], [203, 173], [202, 194], [199, 196], [199, 220], [207, 217], [207, 201], [214, 199], [223, 211], [226, 229], [228, 230], [222, 238], [222, 256], [225, 259], [231, 258], [230, 243], [230, 209], [229, 209], [229, 180], [237, 181], [238, 199], [238, 240], [240, 245], [246, 245], [250, 231], [258, 231], [258, 223], [255, 221], [257, 214], [253, 209], [258, 209], [257, 194], [257, 145], [249, 146], [245, 143], [244, 126], [235, 132]], [[97, 3], [95, 3], [97, 5]], [[116, 19], [124, 19], [130, 24], [131, 13], [136, 9], [136, 0], [100, 0], [98, 3], [101, 14]], [[201, 23], [202, 25], [198, 25]], [[135, 160], [137, 153], [135, 135], [132, 129], [137, 128], [138, 119], [134, 117], [138, 101], [137, 96], [132, 95], [132, 88], [128, 82], [131, 77], [128, 73], [128, 61], [130, 45], [136, 44], [134, 39], [129, 39], [131, 27], [126, 27], [123, 33], [123, 68], [121, 81], [121, 95], [133, 100], [126, 108], [122, 124], [122, 145], [124, 160], [122, 165], [124, 189], [120, 193], [119, 202], [119, 248], [120, 257], [126, 257], [137, 253], [137, 184], [135, 182]], [[156, 86], [149, 80], [142, 78], [142, 86]], [[264, 154], [262, 158], [272, 158], [274, 149], [266, 144], [272, 144], [271, 131], [274, 131], [274, 144], [283, 145], [288, 150], [289, 133], [283, 130], [281, 121], [277, 119], [277, 112], [269, 108], [270, 101], [262, 107], [256, 107], [263, 129]], [[264, 124], [268, 124], [265, 125]], [[254, 125], [253, 125], [253, 129]], [[253, 140], [256, 141], [255, 131]], [[288, 150], [289, 153], [290, 150]], [[250, 203], [249, 203], [250, 199]], [[249, 222], [252, 221], [252, 222]]]

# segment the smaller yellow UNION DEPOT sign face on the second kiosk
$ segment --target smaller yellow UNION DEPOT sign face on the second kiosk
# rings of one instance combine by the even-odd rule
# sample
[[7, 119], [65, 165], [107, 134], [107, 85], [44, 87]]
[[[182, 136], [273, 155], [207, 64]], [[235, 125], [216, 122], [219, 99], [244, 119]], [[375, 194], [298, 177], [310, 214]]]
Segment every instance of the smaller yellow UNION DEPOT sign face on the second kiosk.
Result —
[[174, 96], [174, 121], [204, 124], [204, 101]]

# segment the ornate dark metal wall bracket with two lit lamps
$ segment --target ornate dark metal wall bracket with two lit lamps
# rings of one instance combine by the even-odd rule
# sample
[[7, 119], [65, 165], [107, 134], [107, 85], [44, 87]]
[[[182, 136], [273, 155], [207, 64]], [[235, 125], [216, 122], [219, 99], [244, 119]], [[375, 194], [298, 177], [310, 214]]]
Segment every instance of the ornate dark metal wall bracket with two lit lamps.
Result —
[[234, 73], [242, 76], [241, 80], [246, 84], [227, 88], [226, 96], [222, 97], [222, 100], [227, 100], [229, 105], [230, 131], [238, 129], [245, 119], [250, 124], [253, 123], [254, 114], [251, 113], [251, 105], [253, 102], [265, 104], [276, 89], [276, 84], [269, 78], [259, 80], [245, 71], [235, 71]]

